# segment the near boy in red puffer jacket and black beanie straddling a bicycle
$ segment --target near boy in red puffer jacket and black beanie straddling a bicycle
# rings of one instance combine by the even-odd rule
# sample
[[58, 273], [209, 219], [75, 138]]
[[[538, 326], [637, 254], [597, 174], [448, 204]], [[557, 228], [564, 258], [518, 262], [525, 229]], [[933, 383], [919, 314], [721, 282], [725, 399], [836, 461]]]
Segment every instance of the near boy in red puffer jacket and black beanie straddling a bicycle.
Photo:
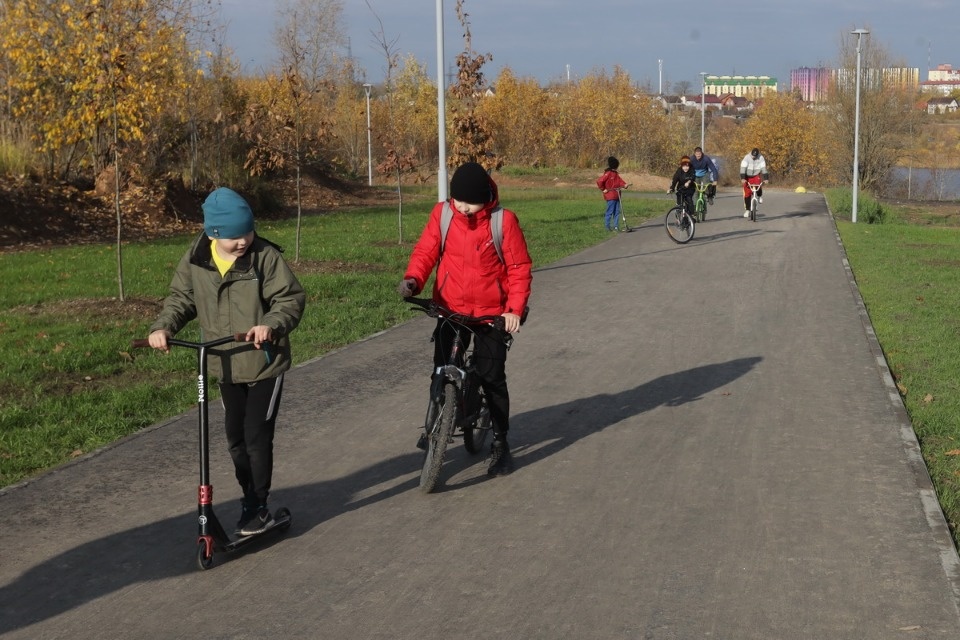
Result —
[[[456, 313], [471, 316], [502, 315], [507, 333], [520, 331], [520, 317], [530, 298], [530, 254], [517, 216], [503, 210], [503, 258], [497, 253], [491, 230], [491, 213], [500, 208], [497, 185], [476, 162], [461, 165], [450, 180], [453, 219], [446, 238], [441, 238], [443, 202], [430, 212], [430, 219], [417, 241], [398, 291], [404, 297], [419, 293], [434, 267], [433, 299]], [[442, 253], [441, 253], [442, 248]], [[437, 322], [434, 330], [434, 367], [446, 364], [456, 331]], [[464, 346], [471, 332], [461, 331]], [[476, 327], [473, 338], [477, 377], [490, 407], [493, 444], [487, 474], [506, 475], [513, 470], [507, 444], [510, 429], [510, 394], [507, 390], [507, 343], [491, 326]], [[418, 443], [420, 446], [420, 443]]]

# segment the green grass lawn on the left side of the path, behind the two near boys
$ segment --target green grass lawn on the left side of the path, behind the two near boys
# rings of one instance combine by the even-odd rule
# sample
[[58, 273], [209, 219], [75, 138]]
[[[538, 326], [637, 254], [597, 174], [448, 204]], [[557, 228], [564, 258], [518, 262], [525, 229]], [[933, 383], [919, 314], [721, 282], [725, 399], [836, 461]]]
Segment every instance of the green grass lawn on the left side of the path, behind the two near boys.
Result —
[[[501, 197], [520, 216], [535, 266], [609, 236], [596, 190], [504, 190]], [[641, 199], [625, 205], [631, 224], [663, 209], [662, 202]], [[396, 207], [306, 217], [297, 264], [295, 221], [258, 224], [263, 236], [286, 249], [307, 290], [306, 313], [291, 337], [297, 362], [411, 317], [396, 285], [430, 206], [429, 198], [405, 198], [402, 243]], [[116, 300], [113, 246], [3, 256], [0, 486], [192, 406], [192, 352], [175, 349], [164, 356], [129, 349], [132, 338], [146, 336], [191, 240], [124, 245], [124, 303]], [[195, 324], [181, 336], [195, 339]]]

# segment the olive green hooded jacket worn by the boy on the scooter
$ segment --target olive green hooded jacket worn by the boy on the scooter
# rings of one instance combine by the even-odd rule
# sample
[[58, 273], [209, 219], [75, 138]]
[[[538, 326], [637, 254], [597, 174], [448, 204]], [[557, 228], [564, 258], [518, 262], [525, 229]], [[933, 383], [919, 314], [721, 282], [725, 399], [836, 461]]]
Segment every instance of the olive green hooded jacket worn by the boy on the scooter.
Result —
[[223, 382], [248, 383], [275, 378], [290, 368], [290, 332], [300, 323], [306, 294], [277, 245], [255, 236], [247, 252], [220, 277], [210, 253], [210, 239], [201, 233], [180, 259], [170, 295], [150, 332], [176, 334], [194, 318], [201, 340], [265, 325], [273, 341], [256, 349], [253, 343], [228, 343], [208, 351], [208, 373]]

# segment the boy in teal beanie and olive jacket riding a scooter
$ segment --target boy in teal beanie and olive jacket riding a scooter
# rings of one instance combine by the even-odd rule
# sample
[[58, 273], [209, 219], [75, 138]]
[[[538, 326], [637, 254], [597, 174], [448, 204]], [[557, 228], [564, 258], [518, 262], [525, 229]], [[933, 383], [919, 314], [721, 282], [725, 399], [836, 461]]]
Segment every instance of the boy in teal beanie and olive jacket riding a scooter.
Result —
[[219, 379], [227, 445], [243, 491], [236, 534], [271, 526], [267, 496], [273, 476], [273, 436], [290, 368], [290, 332], [300, 323], [306, 295], [281, 255], [254, 231], [253, 212], [238, 193], [213, 191], [203, 203], [203, 231], [180, 259], [170, 295], [150, 327], [154, 349], [196, 318], [205, 340], [242, 333], [247, 342], [209, 352]]

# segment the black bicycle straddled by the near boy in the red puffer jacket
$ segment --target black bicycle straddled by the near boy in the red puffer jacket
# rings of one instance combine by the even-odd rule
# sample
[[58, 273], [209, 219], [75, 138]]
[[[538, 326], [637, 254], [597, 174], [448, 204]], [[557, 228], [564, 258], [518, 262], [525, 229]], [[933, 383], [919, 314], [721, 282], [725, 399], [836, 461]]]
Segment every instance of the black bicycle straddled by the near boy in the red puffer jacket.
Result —
[[[427, 298], [404, 298], [431, 318], [455, 325], [455, 329], [475, 333], [480, 326], [492, 326], [503, 335], [510, 348], [513, 336], [504, 330], [503, 316], [468, 316], [455, 313]], [[461, 331], [453, 331], [453, 340], [446, 364], [437, 367], [430, 383], [430, 399], [423, 423], [423, 434], [417, 446], [424, 449], [420, 471], [420, 489], [430, 493], [440, 479], [440, 470], [447, 446], [454, 438], [463, 438], [464, 448], [477, 454], [492, 431], [490, 409], [480, 386], [473, 362], [473, 348], [467, 346]], [[470, 345], [474, 343], [469, 341]]]

